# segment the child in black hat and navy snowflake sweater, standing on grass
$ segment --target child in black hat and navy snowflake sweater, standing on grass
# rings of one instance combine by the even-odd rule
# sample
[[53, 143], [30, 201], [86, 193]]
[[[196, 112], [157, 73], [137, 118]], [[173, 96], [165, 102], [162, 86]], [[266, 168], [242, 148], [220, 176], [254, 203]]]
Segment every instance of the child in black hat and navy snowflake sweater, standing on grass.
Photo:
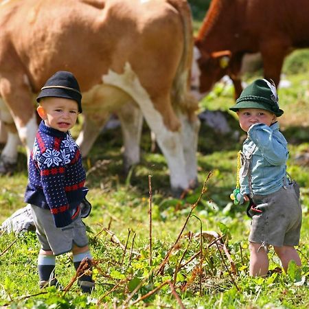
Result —
[[[72, 251], [73, 264], [89, 264], [78, 284], [83, 292], [91, 292], [91, 253], [81, 217], [89, 214], [91, 205], [85, 196], [86, 173], [82, 157], [69, 130], [82, 113], [82, 95], [76, 78], [67, 71], [56, 72], [41, 89], [38, 115], [43, 119], [29, 162], [25, 202], [32, 205], [36, 234], [41, 242], [38, 255], [40, 287], [58, 284], [54, 277], [56, 255]], [[86, 204], [85, 204], [86, 203]], [[83, 216], [81, 207], [88, 207]], [[85, 210], [85, 209], [83, 209]]]

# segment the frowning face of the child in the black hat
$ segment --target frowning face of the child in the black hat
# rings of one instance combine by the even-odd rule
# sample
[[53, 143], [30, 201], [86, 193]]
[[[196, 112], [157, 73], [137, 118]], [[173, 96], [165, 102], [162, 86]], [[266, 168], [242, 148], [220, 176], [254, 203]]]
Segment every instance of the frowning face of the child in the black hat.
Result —
[[46, 126], [67, 132], [76, 124], [78, 104], [70, 99], [49, 97], [41, 100], [37, 111]]

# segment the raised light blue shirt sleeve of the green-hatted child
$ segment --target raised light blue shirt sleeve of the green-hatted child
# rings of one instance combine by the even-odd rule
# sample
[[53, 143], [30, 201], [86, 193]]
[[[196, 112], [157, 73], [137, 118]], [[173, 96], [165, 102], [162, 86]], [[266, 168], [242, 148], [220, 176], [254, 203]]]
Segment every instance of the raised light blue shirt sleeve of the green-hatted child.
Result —
[[249, 128], [248, 136], [258, 146], [262, 156], [271, 165], [284, 165], [288, 159], [285, 139], [279, 139], [266, 124], [254, 124]]

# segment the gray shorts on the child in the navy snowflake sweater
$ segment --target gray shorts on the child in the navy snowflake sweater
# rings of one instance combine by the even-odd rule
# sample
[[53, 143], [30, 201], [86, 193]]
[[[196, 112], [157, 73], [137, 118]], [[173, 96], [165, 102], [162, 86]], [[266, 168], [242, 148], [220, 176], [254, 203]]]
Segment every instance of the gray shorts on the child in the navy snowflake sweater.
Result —
[[31, 208], [36, 235], [43, 250], [60, 255], [71, 251], [73, 244], [77, 247], [87, 246], [86, 227], [80, 216], [67, 227], [56, 227], [49, 209], [42, 209], [35, 205], [31, 205]]

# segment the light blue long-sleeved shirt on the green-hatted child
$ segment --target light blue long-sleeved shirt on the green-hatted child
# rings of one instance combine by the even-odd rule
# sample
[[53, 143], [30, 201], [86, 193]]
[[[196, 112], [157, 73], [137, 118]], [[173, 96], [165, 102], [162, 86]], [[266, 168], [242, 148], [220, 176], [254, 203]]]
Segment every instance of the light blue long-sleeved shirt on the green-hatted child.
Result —
[[253, 124], [242, 146], [242, 153], [251, 157], [250, 171], [244, 172], [245, 164], [240, 168], [240, 193], [250, 195], [249, 176], [253, 194], [271, 194], [277, 192], [286, 179], [286, 161], [288, 159], [287, 141], [279, 132], [279, 124]]

